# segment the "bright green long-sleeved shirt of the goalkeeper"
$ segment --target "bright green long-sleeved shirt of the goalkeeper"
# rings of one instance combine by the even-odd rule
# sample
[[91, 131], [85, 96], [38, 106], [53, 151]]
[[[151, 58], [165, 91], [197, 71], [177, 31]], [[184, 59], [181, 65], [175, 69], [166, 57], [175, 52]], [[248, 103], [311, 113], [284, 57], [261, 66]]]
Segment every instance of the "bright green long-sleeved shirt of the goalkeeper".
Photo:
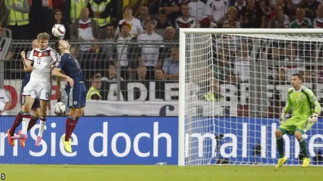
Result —
[[305, 86], [302, 86], [299, 91], [295, 91], [293, 87], [288, 89], [285, 113], [290, 112], [292, 108], [295, 118], [309, 117], [321, 110], [313, 92]]

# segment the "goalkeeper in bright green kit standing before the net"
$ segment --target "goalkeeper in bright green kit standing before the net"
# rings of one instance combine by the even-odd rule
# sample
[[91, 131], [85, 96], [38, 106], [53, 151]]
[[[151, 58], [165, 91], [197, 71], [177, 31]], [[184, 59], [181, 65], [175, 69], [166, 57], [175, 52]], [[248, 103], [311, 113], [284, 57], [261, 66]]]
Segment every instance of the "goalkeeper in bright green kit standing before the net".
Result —
[[[314, 123], [317, 122], [321, 106], [313, 92], [302, 85], [302, 76], [299, 73], [292, 75], [292, 87], [288, 89], [287, 102], [284, 112], [279, 119], [281, 126], [275, 131], [276, 142], [280, 158], [276, 167], [282, 166], [287, 157], [284, 155], [283, 135], [295, 135], [304, 154], [302, 167], [308, 167], [310, 158], [307, 154], [306, 142], [302, 137]], [[293, 108], [293, 116], [285, 121], [286, 114]]]

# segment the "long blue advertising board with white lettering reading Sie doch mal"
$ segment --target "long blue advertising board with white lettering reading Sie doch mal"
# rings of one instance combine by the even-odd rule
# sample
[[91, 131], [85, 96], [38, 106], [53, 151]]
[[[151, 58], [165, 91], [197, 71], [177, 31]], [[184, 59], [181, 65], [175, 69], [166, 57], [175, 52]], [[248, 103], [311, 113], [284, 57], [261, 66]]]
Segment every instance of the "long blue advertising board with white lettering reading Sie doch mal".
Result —
[[[82, 117], [72, 135], [72, 153], [61, 143], [65, 117], [48, 117], [42, 145], [35, 147], [39, 126], [29, 132], [26, 147], [7, 141], [14, 117], [0, 117], [0, 163], [24, 164], [178, 164], [178, 118], [176, 117]], [[192, 120], [191, 120], [192, 121]], [[323, 149], [323, 120], [304, 135], [309, 154]], [[275, 163], [278, 158], [275, 130], [279, 123], [265, 118], [194, 119], [185, 135], [186, 160], [191, 164], [254, 161]], [[20, 128], [17, 128], [17, 131]], [[218, 141], [216, 136], [223, 134]], [[298, 164], [299, 147], [294, 137], [284, 136], [290, 164]], [[258, 154], [254, 148], [260, 145]], [[259, 148], [259, 147], [258, 147]]]

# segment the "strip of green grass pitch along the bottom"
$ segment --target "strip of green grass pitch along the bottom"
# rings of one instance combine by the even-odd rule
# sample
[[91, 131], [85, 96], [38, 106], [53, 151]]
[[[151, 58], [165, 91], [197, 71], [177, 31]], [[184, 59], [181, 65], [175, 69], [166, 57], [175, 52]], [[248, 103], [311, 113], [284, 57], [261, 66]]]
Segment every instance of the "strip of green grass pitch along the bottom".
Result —
[[323, 180], [322, 167], [0, 164], [6, 180], [24, 181], [294, 181]]

